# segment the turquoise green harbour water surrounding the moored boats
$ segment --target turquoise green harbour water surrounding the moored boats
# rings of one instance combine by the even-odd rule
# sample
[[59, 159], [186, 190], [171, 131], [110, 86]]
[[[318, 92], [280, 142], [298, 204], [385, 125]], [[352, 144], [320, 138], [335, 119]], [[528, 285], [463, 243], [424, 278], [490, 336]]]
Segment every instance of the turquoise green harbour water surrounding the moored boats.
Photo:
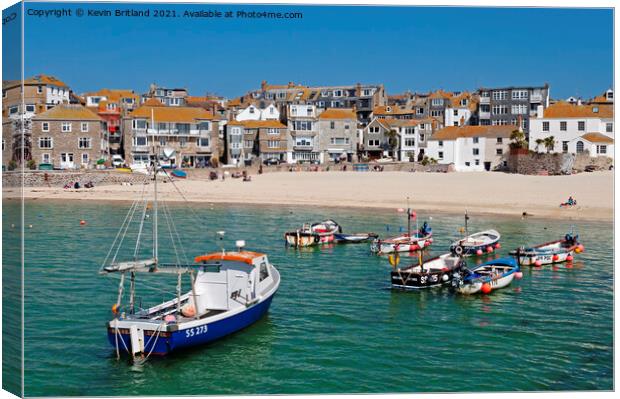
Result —
[[[387, 259], [371, 255], [367, 244], [284, 246], [285, 230], [327, 217], [346, 232], [386, 234], [389, 225], [394, 234], [405, 227], [395, 210], [194, 205], [195, 215], [171, 206], [191, 257], [215, 250], [215, 231], [226, 230], [228, 248], [245, 239], [248, 249], [268, 253], [282, 284], [269, 314], [255, 325], [138, 367], [117, 361], [107, 342], [117, 280], [97, 274], [128, 208], [27, 203], [27, 396], [613, 388], [611, 223], [576, 225], [586, 252], [571, 268], [527, 268], [505, 290], [463, 297], [389, 289]], [[5, 234], [17, 209], [5, 205]], [[434, 253], [447, 248], [463, 223], [462, 215], [418, 215], [433, 216]], [[471, 216], [472, 231], [502, 233], [500, 254], [570, 228], [563, 221]], [[11, 267], [5, 257], [5, 275]], [[140, 277], [144, 306], [174, 295], [174, 280]]]

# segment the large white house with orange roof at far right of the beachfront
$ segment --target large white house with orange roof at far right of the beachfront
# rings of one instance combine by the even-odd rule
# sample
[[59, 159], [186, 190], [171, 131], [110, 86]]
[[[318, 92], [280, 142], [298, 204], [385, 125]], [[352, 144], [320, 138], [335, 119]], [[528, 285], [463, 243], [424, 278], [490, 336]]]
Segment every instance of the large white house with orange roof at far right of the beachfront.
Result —
[[582, 153], [613, 158], [613, 105], [590, 103], [576, 105], [558, 102], [530, 119], [529, 148], [546, 152], [542, 140], [553, 137], [550, 152]]

